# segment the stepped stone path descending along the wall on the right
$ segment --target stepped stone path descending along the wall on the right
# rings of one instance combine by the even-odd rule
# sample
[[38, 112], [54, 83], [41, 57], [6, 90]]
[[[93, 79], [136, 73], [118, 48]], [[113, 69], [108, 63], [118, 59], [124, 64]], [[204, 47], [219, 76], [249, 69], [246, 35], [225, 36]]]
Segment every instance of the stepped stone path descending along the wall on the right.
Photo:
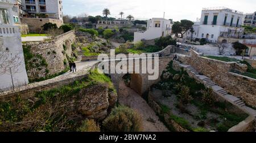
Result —
[[205, 86], [207, 86], [208, 88], [212, 88], [213, 92], [218, 94], [218, 96], [221, 96], [222, 98], [226, 99], [227, 101], [229, 101], [233, 105], [237, 106], [241, 110], [243, 110], [251, 115], [256, 116], [256, 110], [251, 109], [250, 107], [247, 107], [241, 98], [237, 98], [231, 94], [228, 94], [228, 92], [224, 88], [222, 88], [221, 86], [218, 86], [209, 77], [204, 76], [204, 75], [199, 75], [199, 72], [197, 72], [195, 70], [195, 68], [193, 68], [192, 66], [190, 66], [188, 64], [180, 64], [180, 66], [186, 68], [191, 73], [193, 73], [197, 77], [197, 79], [203, 81]]

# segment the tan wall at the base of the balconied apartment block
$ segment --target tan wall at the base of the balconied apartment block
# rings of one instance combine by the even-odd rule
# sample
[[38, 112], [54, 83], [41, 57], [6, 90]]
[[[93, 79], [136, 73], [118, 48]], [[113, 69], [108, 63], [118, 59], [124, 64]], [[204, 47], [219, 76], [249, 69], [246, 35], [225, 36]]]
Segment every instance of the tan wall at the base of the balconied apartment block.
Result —
[[63, 21], [59, 19], [50, 19], [50, 18], [20, 18], [21, 23], [26, 23], [30, 32], [38, 33], [42, 26], [46, 23], [55, 23], [57, 27], [63, 25]]

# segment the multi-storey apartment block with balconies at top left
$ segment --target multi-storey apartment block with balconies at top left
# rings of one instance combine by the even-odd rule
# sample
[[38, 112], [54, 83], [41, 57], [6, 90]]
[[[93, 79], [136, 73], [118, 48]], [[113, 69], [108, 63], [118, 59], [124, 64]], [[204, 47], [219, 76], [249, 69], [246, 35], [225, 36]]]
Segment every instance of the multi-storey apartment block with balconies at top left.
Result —
[[62, 0], [22, 0], [22, 7], [28, 15], [47, 14], [48, 18], [63, 19]]

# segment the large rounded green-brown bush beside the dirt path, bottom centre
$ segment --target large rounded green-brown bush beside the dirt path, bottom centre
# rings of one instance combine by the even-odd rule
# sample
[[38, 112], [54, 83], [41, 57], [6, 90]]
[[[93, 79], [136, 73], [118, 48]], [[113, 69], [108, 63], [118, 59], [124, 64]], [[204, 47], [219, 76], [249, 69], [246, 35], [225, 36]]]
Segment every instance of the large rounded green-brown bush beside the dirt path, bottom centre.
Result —
[[142, 118], [137, 111], [120, 105], [112, 110], [103, 126], [107, 132], [141, 132]]

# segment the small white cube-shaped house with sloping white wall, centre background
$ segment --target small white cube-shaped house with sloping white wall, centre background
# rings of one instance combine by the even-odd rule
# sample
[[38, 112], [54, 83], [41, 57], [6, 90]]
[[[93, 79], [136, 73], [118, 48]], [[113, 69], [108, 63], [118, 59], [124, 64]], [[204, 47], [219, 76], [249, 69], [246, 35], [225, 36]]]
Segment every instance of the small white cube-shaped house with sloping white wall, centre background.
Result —
[[153, 40], [171, 34], [171, 21], [164, 18], [152, 18], [147, 20], [147, 31], [134, 32], [134, 42], [141, 40]]

